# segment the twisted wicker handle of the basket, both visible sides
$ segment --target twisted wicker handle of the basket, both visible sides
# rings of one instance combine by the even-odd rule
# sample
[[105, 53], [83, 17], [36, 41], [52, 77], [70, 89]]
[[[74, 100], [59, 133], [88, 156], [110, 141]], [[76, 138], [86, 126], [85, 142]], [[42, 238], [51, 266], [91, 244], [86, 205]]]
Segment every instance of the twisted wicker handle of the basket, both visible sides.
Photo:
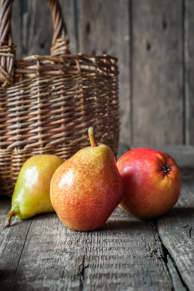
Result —
[[[5, 87], [14, 82], [14, 61], [16, 46], [12, 38], [12, 4], [14, 0], [0, 0], [0, 86]], [[58, 0], [47, 0], [52, 12], [53, 39], [51, 56], [68, 54], [69, 40]]]

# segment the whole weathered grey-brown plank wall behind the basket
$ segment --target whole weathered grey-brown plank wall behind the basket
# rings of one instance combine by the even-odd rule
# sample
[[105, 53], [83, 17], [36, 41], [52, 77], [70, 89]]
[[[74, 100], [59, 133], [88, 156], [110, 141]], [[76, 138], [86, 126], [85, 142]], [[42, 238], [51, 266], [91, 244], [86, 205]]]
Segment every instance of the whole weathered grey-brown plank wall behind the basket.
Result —
[[[119, 58], [120, 142], [194, 144], [194, 0], [60, 0], [72, 53]], [[17, 58], [49, 54], [46, 0], [15, 0]]]

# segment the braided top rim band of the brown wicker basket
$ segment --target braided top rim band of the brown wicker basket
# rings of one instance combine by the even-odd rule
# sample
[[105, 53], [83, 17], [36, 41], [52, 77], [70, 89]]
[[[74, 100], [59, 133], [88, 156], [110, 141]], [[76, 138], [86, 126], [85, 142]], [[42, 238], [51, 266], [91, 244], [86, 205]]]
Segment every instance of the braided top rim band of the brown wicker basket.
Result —
[[0, 90], [13, 88], [25, 81], [53, 76], [84, 76], [85, 74], [113, 77], [119, 75], [118, 59], [111, 55], [66, 54], [63, 57], [31, 55], [14, 62], [15, 81]]

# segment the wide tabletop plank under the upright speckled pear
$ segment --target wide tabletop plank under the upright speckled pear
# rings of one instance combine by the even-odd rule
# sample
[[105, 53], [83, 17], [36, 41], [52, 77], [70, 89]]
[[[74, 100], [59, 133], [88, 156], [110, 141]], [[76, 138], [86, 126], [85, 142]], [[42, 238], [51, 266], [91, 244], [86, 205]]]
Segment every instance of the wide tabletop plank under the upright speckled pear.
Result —
[[55, 213], [0, 230], [5, 291], [172, 289], [156, 228], [122, 210], [92, 232], [65, 227]]

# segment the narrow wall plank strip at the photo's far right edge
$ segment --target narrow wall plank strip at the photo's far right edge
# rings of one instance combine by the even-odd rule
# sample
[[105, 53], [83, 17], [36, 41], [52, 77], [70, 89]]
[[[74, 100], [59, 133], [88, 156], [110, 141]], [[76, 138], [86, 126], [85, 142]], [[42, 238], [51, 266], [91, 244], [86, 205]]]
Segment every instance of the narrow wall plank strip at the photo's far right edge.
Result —
[[194, 145], [194, 1], [184, 3], [185, 142]]

